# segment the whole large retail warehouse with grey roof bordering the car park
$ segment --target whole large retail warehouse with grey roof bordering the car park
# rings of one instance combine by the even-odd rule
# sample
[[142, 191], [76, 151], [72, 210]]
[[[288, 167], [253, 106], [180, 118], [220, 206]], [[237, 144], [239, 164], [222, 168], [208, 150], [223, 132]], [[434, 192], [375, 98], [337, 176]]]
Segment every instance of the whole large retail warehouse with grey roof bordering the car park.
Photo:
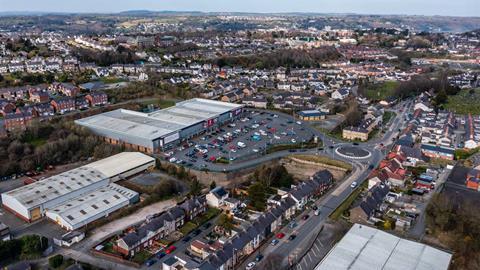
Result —
[[243, 108], [241, 104], [195, 98], [152, 113], [118, 109], [75, 123], [112, 144], [158, 153], [238, 118]]

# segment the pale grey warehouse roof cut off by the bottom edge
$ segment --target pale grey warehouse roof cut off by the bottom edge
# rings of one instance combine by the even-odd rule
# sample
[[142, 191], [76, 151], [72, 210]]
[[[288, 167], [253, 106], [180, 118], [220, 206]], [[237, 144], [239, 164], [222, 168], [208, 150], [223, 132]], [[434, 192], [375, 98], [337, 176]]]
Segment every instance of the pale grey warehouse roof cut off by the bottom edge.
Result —
[[355, 224], [315, 270], [447, 270], [452, 254]]

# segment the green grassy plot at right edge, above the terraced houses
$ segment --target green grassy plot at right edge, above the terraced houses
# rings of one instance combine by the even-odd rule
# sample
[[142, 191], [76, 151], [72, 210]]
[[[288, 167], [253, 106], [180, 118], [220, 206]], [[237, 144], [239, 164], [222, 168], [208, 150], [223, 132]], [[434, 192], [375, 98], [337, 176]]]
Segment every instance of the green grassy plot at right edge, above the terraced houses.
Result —
[[458, 114], [480, 114], [480, 88], [470, 93], [470, 90], [462, 90], [454, 96], [449, 96], [447, 103], [444, 104], [445, 109], [451, 110]]

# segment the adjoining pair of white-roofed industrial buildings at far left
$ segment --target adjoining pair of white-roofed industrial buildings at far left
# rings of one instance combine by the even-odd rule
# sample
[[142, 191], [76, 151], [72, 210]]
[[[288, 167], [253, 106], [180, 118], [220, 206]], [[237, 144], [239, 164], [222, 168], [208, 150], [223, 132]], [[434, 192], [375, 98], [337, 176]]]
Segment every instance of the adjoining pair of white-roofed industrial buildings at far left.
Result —
[[113, 182], [153, 166], [152, 157], [123, 152], [2, 193], [2, 204], [27, 222], [47, 216], [75, 229], [138, 199], [138, 193]]

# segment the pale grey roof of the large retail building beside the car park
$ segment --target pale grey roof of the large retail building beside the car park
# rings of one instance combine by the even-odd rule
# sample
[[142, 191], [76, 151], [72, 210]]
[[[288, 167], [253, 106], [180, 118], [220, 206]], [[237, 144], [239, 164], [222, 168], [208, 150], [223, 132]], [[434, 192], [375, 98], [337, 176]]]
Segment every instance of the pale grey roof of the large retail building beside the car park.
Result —
[[152, 113], [118, 109], [76, 120], [75, 122], [82, 126], [111, 130], [133, 137], [154, 140], [242, 106], [195, 98]]

